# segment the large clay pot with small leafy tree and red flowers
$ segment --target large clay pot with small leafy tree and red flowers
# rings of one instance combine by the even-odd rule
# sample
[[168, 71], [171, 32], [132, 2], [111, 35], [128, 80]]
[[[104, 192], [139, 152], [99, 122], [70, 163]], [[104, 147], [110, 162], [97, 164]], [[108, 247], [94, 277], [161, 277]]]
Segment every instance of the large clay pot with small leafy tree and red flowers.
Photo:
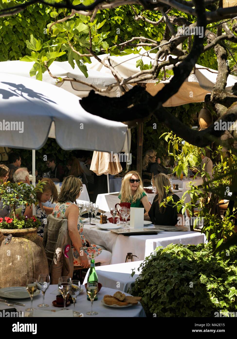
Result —
[[37, 228], [37, 217], [16, 215], [17, 206], [37, 205], [37, 193], [43, 193], [43, 185], [1, 182], [0, 196], [3, 206], [10, 206], [13, 217], [0, 219], [4, 235], [12, 234], [11, 242], [0, 247], [0, 287], [25, 286], [28, 278], [38, 278], [40, 273], [48, 274], [48, 261]]

